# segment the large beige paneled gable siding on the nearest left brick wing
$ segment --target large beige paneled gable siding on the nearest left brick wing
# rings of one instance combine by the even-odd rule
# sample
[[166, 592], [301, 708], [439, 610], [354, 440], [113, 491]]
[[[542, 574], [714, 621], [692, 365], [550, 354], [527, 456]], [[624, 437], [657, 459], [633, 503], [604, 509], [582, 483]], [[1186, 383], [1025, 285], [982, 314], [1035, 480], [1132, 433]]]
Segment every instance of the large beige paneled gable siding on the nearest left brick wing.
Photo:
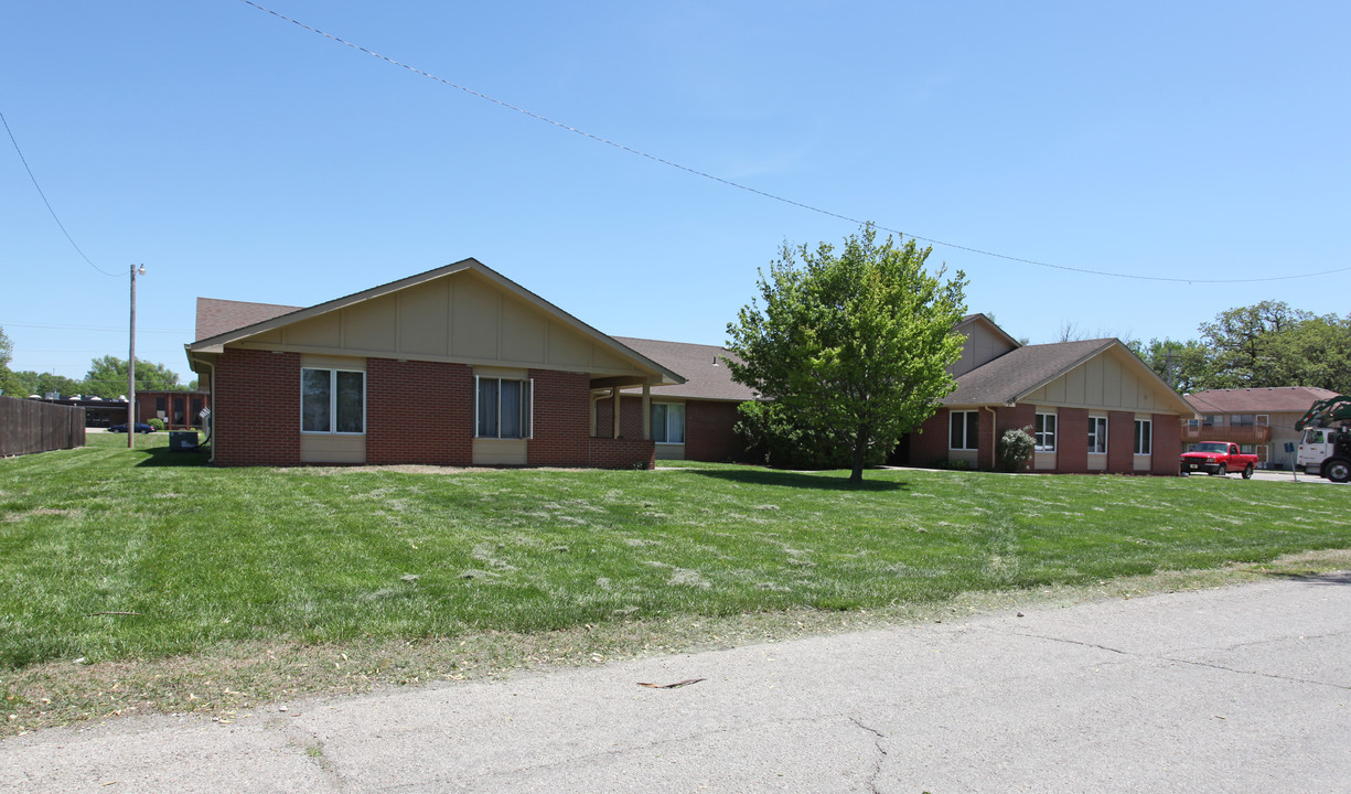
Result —
[[639, 374], [634, 365], [592, 336], [471, 271], [258, 334], [239, 346]]

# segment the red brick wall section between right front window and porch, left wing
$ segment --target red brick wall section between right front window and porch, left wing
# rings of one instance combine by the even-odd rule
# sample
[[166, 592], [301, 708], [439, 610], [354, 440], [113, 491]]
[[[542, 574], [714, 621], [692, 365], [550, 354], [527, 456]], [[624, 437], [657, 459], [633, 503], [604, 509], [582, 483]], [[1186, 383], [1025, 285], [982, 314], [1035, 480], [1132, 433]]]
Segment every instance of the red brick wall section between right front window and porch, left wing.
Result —
[[[530, 370], [535, 379], [530, 466], [586, 466], [590, 462], [590, 379], [585, 373]], [[608, 419], [608, 416], [607, 416]]]

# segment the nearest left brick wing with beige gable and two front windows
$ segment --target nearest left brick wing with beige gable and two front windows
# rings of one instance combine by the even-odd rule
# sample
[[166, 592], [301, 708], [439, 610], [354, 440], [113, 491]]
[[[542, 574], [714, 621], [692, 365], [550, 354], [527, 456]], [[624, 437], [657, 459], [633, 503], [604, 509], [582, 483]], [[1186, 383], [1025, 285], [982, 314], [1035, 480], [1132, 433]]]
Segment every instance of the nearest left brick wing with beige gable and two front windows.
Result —
[[222, 466], [650, 467], [653, 412], [597, 432], [594, 398], [684, 383], [474, 259], [309, 308], [199, 298], [186, 350]]

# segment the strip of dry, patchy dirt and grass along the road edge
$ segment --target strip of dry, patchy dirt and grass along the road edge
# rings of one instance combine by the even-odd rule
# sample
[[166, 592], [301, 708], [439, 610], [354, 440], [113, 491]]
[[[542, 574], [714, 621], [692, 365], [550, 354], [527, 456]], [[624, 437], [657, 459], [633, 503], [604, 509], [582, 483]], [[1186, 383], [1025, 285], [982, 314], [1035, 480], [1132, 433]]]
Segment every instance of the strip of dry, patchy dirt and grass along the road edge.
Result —
[[1081, 586], [969, 591], [935, 602], [869, 610], [750, 613], [728, 617], [615, 620], [540, 633], [236, 643], [158, 660], [53, 662], [0, 672], [0, 736], [145, 713], [200, 714], [228, 722], [277, 701], [369, 693], [509, 675], [515, 671], [775, 643], [870, 628], [965, 620], [1009, 609], [1074, 605], [1198, 590], [1270, 578], [1325, 578], [1351, 570], [1351, 550], [1289, 555], [1265, 564], [1165, 571]]

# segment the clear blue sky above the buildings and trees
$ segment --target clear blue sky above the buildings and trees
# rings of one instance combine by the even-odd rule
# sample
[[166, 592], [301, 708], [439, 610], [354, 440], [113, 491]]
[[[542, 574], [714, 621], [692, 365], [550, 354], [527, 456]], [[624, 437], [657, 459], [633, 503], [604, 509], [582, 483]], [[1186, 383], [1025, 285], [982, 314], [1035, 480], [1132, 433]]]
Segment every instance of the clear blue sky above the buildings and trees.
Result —
[[[757, 190], [1144, 277], [934, 246], [969, 311], [1034, 343], [1351, 309], [1346, 3], [259, 3]], [[42, 190], [113, 274], [0, 136], [18, 370], [124, 358], [132, 262], [136, 355], [184, 379], [197, 296], [311, 305], [465, 257], [608, 334], [720, 344], [785, 240], [857, 231], [240, 0], [11, 3], [0, 73]]]

